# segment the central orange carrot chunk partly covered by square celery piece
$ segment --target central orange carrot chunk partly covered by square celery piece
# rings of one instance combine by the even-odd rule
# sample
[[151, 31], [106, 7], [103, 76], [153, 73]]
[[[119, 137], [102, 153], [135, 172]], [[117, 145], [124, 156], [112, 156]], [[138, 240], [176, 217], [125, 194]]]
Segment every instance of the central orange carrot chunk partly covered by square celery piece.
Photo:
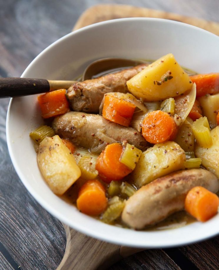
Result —
[[106, 183], [119, 181], [132, 170], [120, 162], [122, 155], [122, 145], [112, 143], [106, 146], [105, 150], [99, 155], [96, 162], [96, 170], [99, 177]]

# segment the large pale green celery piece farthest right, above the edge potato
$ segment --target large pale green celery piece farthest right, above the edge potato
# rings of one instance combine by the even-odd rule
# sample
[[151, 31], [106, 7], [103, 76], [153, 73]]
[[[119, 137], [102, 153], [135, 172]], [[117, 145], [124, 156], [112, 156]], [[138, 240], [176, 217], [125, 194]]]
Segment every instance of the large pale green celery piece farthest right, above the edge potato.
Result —
[[208, 148], [213, 145], [207, 117], [197, 119], [192, 125], [192, 130], [195, 135], [195, 140], [201, 147]]

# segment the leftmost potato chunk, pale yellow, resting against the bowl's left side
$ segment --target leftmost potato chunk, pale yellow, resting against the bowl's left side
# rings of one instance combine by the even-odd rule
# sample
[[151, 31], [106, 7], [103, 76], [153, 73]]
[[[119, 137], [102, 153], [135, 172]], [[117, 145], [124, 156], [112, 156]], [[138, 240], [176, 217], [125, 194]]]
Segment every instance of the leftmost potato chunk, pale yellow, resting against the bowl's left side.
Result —
[[81, 176], [74, 156], [62, 143], [58, 135], [46, 137], [39, 145], [37, 153], [39, 169], [57, 195], [62, 195]]

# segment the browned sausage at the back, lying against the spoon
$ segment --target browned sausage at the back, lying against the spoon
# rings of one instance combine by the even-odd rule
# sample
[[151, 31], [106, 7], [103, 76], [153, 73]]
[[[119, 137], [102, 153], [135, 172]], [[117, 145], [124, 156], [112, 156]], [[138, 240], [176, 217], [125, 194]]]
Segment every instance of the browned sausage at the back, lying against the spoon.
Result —
[[147, 66], [148, 64], [141, 64], [118, 73], [73, 84], [67, 93], [72, 110], [85, 113], [98, 113], [105, 93], [126, 93], [128, 90], [126, 82]]

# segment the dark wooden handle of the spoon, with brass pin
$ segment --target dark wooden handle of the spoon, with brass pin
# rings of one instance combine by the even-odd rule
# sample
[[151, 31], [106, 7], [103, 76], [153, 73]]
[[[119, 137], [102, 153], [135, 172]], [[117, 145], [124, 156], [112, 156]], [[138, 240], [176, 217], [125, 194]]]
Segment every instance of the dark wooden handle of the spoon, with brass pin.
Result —
[[50, 90], [46, 79], [0, 78], [0, 98], [45, 93]]

